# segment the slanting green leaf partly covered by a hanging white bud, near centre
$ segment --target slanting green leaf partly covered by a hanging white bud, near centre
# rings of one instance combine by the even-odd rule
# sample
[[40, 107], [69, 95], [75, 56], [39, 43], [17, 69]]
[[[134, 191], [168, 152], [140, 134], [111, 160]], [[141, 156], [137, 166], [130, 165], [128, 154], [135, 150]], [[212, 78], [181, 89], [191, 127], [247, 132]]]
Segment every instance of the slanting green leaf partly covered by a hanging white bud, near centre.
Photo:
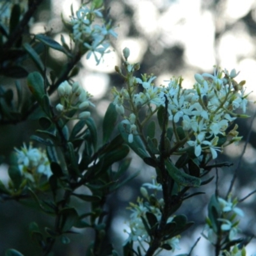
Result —
[[129, 143], [129, 141], [128, 141], [129, 133], [127, 132], [130, 129], [129, 124], [124, 124], [124, 123], [121, 122], [120, 124], [118, 124], [118, 129], [119, 129], [120, 134], [122, 135], [122, 138], [124, 139], [124, 141], [127, 143], [127, 145], [129, 145], [129, 147], [132, 148], [132, 150], [138, 156], [140, 156], [142, 159], [144, 159], [145, 157], [149, 157], [139, 135], [133, 136], [132, 143]]

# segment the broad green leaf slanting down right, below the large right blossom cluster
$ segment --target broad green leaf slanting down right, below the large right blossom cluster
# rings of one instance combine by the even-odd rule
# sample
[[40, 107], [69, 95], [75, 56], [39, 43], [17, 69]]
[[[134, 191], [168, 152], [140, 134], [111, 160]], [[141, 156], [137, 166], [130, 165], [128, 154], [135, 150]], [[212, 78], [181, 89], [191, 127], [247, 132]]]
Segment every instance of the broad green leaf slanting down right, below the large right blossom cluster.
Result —
[[201, 180], [199, 178], [181, 172], [174, 164], [168, 160], [165, 161], [167, 171], [177, 184], [184, 187], [199, 187]]

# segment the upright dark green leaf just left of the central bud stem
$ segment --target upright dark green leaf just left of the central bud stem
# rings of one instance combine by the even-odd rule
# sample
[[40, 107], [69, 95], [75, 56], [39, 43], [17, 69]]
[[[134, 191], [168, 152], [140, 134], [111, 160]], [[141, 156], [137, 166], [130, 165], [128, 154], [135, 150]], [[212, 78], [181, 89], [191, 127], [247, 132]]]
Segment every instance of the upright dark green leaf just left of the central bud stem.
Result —
[[106, 114], [103, 119], [103, 124], [102, 124], [103, 143], [106, 143], [109, 140], [116, 126], [117, 116], [118, 116], [118, 113], [116, 112], [115, 105], [113, 104], [113, 102], [111, 102], [108, 106], [108, 109], [106, 111]]

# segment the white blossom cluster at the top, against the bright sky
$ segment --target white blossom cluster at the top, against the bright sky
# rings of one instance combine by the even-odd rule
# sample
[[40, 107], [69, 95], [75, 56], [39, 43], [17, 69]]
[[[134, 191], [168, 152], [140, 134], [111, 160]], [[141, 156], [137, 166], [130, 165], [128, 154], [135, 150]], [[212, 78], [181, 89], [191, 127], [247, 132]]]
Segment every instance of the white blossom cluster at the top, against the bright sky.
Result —
[[[76, 12], [76, 17], [71, 17], [73, 26], [73, 39], [78, 45], [83, 45], [88, 50], [87, 59], [93, 54], [97, 64], [99, 64], [102, 56], [109, 47], [109, 35], [117, 37], [117, 34], [111, 28], [111, 22], [106, 24], [101, 9], [88, 8], [81, 6]], [[95, 24], [95, 18], [100, 20], [99, 24]], [[100, 56], [100, 58], [99, 58]]]

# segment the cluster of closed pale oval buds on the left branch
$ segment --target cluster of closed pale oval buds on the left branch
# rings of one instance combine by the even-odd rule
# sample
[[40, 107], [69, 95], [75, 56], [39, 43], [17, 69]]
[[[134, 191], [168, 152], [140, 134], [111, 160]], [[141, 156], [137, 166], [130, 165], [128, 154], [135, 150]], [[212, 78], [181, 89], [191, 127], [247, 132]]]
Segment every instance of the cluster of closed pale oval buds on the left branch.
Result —
[[91, 95], [79, 83], [73, 83], [72, 86], [67, 81], [61, 83], [58, 87], [58, 94], [60, 103], [56, 106], [56, 109], [65, 118], [69, 118], [67, 113], [72, 110], [82, 111], [77, 116], [78, 119], [85, 119], [91, 115], [89, 111], [84, 111], [89, 106], [94, 107], [94, 104], [89, 100]]

